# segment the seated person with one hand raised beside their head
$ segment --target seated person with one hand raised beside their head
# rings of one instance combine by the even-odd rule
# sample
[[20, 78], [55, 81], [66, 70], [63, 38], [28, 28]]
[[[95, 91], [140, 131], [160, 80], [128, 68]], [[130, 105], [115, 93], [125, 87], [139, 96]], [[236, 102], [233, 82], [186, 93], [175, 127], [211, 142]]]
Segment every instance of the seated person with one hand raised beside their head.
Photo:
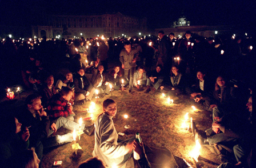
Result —
[[98, 66], [98, 64], [99, 59], [95, 61], [91, 83], [95, 89], [99, 90], [99, 95], [103, 98], [106, 94], [110, 94], [110, 86], [106, 74], [103, 73], [104, 67], [102, 65]]

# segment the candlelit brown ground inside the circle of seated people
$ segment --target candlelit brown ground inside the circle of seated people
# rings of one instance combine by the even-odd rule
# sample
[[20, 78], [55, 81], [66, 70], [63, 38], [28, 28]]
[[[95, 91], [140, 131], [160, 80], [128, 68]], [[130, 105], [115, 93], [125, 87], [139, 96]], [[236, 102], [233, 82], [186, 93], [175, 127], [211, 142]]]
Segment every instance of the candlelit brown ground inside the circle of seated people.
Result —
[[[30, 93], [24, 91], [21, 94], [21, 99], [24, 100], [26, 95]], [[91, 106], [91, 102], [86, 102], [85, 105], [74, 106], [74, 112], [76, 114], [75, 121], [78, 122], [80, 117], [92, 117], [91, 120], [85, 121], [85, 124], [94, 123], [97, 116], [102, 113], [102, 102], [106, 98], [114, 99], [117, 102], [117, 115], [113, 118], [117, 132], [126, 133], [124, 126], [127, 122], [131, 126], [128, 130], [128, 138], [134, 136], [135, 132], [138, 131], [143, 143], [146, 145], [168, 147], [173, 155], [184, 158], [192, 167], [196, 167], [195, 161], [190, 155], [195, 147], [193, 134], [191, 133], [191, 129], [187, 131], [182, 129], [181, 125], [184, 122], [186, 113], [189, 113], [189, 119], [190, 117], [193, 118], [199, 130], [206, 130], [211, 127], [212, 121], [209, 117], [210, 114], [200, 110], [194, 99], [190, 99], [185, 95], [173, 96], [170, 98], [174, 102], [170, 104], [167, 102], [167, 98], [163, 98], [159, 90], [155, 91], [155, 93], [151, 93], [150, 91], [148, 94], [143, 91], [137, 91], [135, 88], [132, 93], [128, 93], [128, 90], [115, 90], [112, 92], [112, 95], [106, 95], [105, 98], [98, 98], [97, 102], [93, 98], [91, 102], [96, 102], [94, 107]], [[7, 108], [13, 105], [18, 106], [22, 104], [22, 101], [18, 99], [17, 95], [14, 101], [3, 99], [1, 104]], [[194, 111], [191, 108], [193, 105], [200, 111]], [[81, 112], [87, 109], [90, 109], [90, 113]], [[127, 121], [123, 117], [125, 114], [128, 115]], [[187, 123], [190, 125], [190, 122]], [[65, 134], [67, 132], [71, 131], [63, 128], [57, 131], [59, 134]], [[126, 136], [119, 138], [126, 139]], [[78, 150], [78, 155], [75, 155], [74, 150], [71, 149], [71, 143], [46, 149], [41, 160], [42, 167], [52, 167], [54, 161], [62, 161], [61, 167], [78, 167], [81, 162], [92, 157], [94, 135], [89, 137], [82, 134], [81, 140], [77, 141], [77, 143], [82, 147], [81, 150]], [[220, 163], [218, 156], [212, 154], [204, 146], [200, 149], [200, 155], [211, 161]], [[217, 165], [211, 165], [207, 162], [204, 163], [205, 167], [217, 167]]]

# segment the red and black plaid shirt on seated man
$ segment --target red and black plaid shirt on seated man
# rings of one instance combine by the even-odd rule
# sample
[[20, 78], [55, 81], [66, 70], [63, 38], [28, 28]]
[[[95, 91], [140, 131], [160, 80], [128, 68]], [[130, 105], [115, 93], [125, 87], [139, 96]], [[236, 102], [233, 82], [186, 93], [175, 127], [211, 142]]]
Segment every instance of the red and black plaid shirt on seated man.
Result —
[[60, 95], [55, 94], [47, 101], [47, 115], [54, 119], [59, 117], [67, 117], [71, 114], [71, 110], [67, 104], [67, 101]]

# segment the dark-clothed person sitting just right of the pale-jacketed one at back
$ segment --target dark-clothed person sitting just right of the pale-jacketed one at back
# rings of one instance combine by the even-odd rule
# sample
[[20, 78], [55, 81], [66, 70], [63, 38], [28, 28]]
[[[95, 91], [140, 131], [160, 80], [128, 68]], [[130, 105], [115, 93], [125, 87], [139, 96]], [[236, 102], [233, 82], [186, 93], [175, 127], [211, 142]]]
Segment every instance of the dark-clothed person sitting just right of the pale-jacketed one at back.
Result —
[[147, 78], [147, 90], [145, 91], [145, 93], [150, 92], [150, 84], [154, 87], [152, 90], [153, 92], [162, 85], [164, 75], [161, 69], [162, 65], [157, 65], [157, 68], [149, 73], [149, 78]]

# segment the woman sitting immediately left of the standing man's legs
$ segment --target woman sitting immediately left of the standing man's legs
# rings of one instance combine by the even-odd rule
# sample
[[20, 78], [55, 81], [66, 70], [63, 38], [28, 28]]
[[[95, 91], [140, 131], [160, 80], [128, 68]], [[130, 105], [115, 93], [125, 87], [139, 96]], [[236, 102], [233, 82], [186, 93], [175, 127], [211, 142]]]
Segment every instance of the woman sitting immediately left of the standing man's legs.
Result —
[[122, 72], [120, 70], [120, 66], [114, 66], [114, 69], [109, 71], [109, 83], [113, 86], [114, 90], [119, 90], [121, 87], [121, 77]]

